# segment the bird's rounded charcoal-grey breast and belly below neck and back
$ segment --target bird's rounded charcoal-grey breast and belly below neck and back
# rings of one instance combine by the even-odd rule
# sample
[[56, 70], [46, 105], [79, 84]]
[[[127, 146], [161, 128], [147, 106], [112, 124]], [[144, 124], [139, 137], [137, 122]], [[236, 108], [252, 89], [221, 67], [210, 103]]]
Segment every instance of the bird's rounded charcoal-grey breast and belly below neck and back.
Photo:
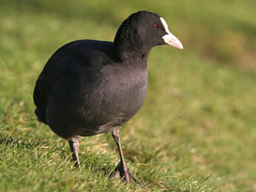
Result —
[[70, 74], [49, 96], [47, 123], [60, 136], [63, 127], [68, 136], [113, 131], [142, 107], [147, 83], [147, 69], [107, 66]]

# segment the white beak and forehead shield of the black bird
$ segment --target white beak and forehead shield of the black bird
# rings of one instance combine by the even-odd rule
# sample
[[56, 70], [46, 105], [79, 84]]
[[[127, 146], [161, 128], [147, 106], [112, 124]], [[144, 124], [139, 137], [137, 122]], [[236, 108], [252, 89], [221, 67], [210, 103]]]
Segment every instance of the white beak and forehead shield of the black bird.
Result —
[[160, 21], [165, 27], [166, 35], [164, 35], [162, 38], [164, 39], [164, 42], [166, 44], [170, 44], [173, 47], [176, 47], [177, 49], [183, 49], [183, 44], [169, 31], [166, 20], [164, 18], [160, 17]]

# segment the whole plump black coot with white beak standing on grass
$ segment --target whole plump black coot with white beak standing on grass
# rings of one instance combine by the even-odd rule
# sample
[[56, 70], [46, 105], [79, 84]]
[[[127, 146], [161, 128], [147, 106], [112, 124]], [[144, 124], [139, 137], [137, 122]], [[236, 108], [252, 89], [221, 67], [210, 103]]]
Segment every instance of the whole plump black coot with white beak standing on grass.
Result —
[[119, 177], [137, 181], [125, 164], [119, 128], [142, 107], [149, 51], [161, 44], [183, 49], [162, 17], [139, 11], [119, 26], [113, 42], [77, 40], [49, 58], [35, 86], [35, 113], [68, 140], [76, 166], [79, 136], [111, 131], [119, 149]]

